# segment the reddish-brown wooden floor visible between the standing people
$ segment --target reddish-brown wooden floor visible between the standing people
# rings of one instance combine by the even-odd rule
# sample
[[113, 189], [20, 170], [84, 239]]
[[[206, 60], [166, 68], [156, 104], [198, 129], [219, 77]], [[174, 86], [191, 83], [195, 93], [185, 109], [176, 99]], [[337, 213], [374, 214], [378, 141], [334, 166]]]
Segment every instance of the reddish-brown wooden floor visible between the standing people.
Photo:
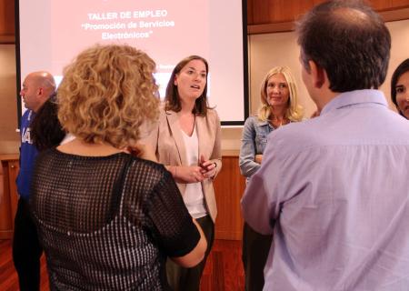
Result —
[[[215, 240], [207, 258], [201, 291], [243, 291], [244, 271], [242, 243], [238, 240]], [[18, 290], [18, 279], [13, 265], [11, 240], [0, 240], [0, 290]], [[48, 291], [45, 257], [41, 265], [41, 291]]]

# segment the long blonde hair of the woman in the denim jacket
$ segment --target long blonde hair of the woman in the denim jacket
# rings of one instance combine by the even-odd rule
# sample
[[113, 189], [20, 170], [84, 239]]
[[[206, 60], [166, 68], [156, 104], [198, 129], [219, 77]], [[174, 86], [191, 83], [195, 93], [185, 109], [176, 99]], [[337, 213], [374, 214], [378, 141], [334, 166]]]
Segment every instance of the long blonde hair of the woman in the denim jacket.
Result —
[[298, 91], [295, 85], [294, 77], [291, 74], [290, 68], [287, 66], [274, 66], [267, 75], [264, 76], [263, 83], [260, 88], [260, 99], [262, 106], [258, 110], [258, 119], [262, 121], [268, 120], [272, 115], [271, 106], [267, 102], [267, 84], [268, 79], [276, 74], [283, 74], [285, 81], [288, 84], [290, 98], [288, 99], [288, 106], [285, 110], [285, 116], [290, 121], [301, 121], [304, 117], [304, 109], [298, 104]]

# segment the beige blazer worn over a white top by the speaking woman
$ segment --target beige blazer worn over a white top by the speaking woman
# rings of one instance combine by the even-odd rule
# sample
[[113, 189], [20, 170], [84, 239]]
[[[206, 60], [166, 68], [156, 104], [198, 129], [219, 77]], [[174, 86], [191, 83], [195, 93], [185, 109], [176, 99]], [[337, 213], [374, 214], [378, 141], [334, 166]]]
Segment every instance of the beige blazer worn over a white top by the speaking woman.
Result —
[[[185, 142], [178, 118], [178, 114], [174, 111], [165, 111], [164, 108], [161, 108], [158, 124], [143, 140], [146, 145], [154, 148], [158, 162], [165, 166], [189, 166], [186, 161]], [[215, 110], [207, 110], [206, 116], [196, 116], [195, 129], [199, 144], [199, 156], [204, 155], [206, 159], [216, 163], [215, 176], [217, 176], [222, 169], [222, 146], [220, 119]], [[202, 182], [205, 203], [213, 221], [217, 216], [213, 187], [214, 177]], [[184, 195], [186, 184], [176, 184]]]

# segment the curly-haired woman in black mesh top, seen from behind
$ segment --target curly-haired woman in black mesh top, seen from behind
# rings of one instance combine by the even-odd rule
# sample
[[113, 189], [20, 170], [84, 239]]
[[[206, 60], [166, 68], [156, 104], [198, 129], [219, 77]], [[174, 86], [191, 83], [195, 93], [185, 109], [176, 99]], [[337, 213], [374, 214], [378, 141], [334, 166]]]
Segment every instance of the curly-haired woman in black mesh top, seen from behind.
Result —
[[167, 257], [205, 256], [174, 179], [138, 144], [159, 114], [154, 71], [129, 45], [95, 45], [65, 67], [58, 119], [75, 138], [38, 156], [31, 200], [52, 290], [168, 290]]

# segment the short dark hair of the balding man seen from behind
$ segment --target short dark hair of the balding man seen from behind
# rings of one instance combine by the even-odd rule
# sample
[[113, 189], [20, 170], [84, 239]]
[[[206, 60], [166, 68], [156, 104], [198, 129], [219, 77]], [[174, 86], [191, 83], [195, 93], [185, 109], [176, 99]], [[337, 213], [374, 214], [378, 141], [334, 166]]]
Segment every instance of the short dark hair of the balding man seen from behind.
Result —
[[384, 83], [391, 35], [381, 16], [359, 0], [316, 5], [297, 24], [301, 60], [324, 68], [333, 92], [377, 89]]

